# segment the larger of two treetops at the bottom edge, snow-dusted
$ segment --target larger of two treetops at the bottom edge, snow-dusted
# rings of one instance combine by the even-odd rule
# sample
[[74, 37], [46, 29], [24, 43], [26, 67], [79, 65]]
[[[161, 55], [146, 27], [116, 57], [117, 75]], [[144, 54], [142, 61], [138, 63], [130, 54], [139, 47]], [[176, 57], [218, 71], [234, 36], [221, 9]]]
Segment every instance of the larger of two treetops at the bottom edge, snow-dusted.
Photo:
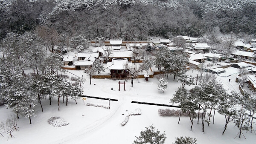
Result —
[[133, 144], [164, 144], [166, 140], [165, 131], [160, 134], [159, 130], [155, 131], [153, 125], [145, 128], [145, 131], [140, 132], [140, 136], [136, 136]]

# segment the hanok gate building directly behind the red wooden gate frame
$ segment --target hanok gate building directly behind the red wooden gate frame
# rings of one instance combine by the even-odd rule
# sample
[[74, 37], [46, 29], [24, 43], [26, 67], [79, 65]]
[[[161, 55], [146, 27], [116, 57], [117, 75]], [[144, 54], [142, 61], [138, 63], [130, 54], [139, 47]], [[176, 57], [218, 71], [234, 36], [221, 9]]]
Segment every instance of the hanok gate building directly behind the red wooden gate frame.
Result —
[[127, 58], [113, 58], [111, 62], [107, 63], [107, 69], [110, 69], [111, 78], [127, 78], [129, 76], [127, 67], [132, 67], [132, 63]]

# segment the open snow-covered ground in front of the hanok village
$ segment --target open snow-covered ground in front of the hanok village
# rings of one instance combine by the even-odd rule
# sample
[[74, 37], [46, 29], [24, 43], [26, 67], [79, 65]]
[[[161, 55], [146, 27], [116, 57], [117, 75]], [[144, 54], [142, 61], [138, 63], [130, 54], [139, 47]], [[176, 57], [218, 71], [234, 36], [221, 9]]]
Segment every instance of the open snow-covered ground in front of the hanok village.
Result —
[[[178, 117], [161, 117], [158, 115], [158, 109], [175, 109], [172, 107], [162, 107], [144, 104], [134, 104], [131, 101], [141, 101], [157, 104], [169, 104], [169, 99], [180, 86], [180, 83], [173, 81], [173, 75], [169, 76], [168, 89], [165, 92], [157, 90], [157, 77], [149, 78], [149, 82], [144, 79], [135, 79], [134, 86], [131, 87], [131, 80], [127, 81], [125, 86], [126, 91], [121, 85], [121, 90], [118, 91], [118, 81], [110, 79], [90, 79], [86, 77], [84, 71], [70, 70], [69, 72], [86, 78], [84, 81], [84, 95], [113, 98], [118, 101], [106, 101], [94, 98], [86, 98], [85, 105], [82, 99], [78, 99], [78, 104], [70, 100], [68, 106], [61, 103], [60, 111], [58, 111], [58, 102], [55, 98], [52, 105], [49, 106], [49, 100], [42, 100], [44, 112], [41, 112], [41, 107], [37, 105], [38, 117], [32, 118], [32, 124], [29, 124], [28, 118], [20, 118], [18, 120], [19, 131], [14, 131], [12, 134], [15, 138], [9, 138], [8, 135], [1, 132], [0, 144], [132, 144], [135, 136], [140, 135], [141, 130], [145, 127], [153, 125], [156, 130], [166, 132], [166, 144], [172, 144], [175, 137], [190, 136], [197, 138], [198, 144], [255, 144], [255, 133], [243, 132], [246, 139], [236, 137], [239, 129], [230, 123], [224, 135], [221, 132], [224, 129], [224, 116], [215, 115], [215, 124], [205, 126], [205, 133], [201, 132], [202, 125], [197, 119], [194, 120], [193, 130], [190, 131], [190, 121], [188, 117], [182, 117], [180, 124], [177, 124]], [[224, 87], [230, 92], [238, 90], [238, 84], [235, 78], [238, 74], [235, 68], [229, 68], [226, 72], [231, 73], [229, 77], [217, 76], [221, 80]], [[189, 71], [188, 74], [196, 75], [197, 70]], [[74, 76], [70, 73], [67, 75]], [[231, 79], [228, 82], [228, 79]], [[123, 81], [123, 80], [122, 80]], [[121, 82], [122, 82], [121, 81]], [[111, 90], [113, 88], [113, 90]], [[187, 87], [191, 89], [192, 86]], [[62, 102], [62, 101], [61, 101]], [[110, 109], [102, 107], [86, 106], [87, 103], [102, 105]], [[141, 110], [141, 115], [130, 115], [125, 126], [121, 123], [125, 117], [136, 109]], [[6, 109], [5, 106], [0, 107], [0, 121], [5, 121], [12, 109]], [[122, 115], [123, 114], [123, 115]], [[52, 116], [59, 116], [64, 119], [69, 125], [62, 127], [53, 127], [48, 124], [48, 119]], [[236, 137], [236, 138], [235, 138]]]

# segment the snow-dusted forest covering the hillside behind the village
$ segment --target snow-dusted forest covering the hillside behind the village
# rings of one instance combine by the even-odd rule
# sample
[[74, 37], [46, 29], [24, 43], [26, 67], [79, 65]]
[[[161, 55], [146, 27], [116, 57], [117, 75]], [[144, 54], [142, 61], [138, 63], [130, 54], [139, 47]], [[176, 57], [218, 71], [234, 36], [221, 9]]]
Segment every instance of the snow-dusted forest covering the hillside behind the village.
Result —
[[254, 0], [1, 0], [0, 37], [38, 25], [65, 39], [84, 34], [88, 40], [197, 37], [214, 27], [255, 34], [255, 6]]

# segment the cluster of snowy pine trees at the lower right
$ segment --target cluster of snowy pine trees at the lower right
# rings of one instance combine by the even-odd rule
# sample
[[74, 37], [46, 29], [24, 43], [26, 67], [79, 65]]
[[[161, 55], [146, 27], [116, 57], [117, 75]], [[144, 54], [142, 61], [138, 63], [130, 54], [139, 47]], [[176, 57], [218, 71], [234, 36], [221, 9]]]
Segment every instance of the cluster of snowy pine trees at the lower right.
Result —
[[[181, 79], [186, 79], [187, 84], [192, 80], [192, 78], [188, 77], [181, 77]], [[194, 82], [190, 82], [190, 84], [194, 84]], [[210, 81], [201, 81], [190, 92], [182, 83], [173, 98], [170, 99], [170, 102], [180, 104], [181, 111], [188, 113], [191, 121], [191, 130], [193, 120], [197, 117], [197, 124], [199, 123], [199, 118], [201, 118], [202, 132], [204, 132], [204, 122], [207, 122], [208, 126], [210, 123], [214, 124], [215, 110], [217, 110], [226, 119], [222, 134], [224, 134], [227, 124], [233, 121], [239, 128], [238, 135], [240, 138], [243, 130], [253, 132], [253, 115], [256, 110], [256, 98], [253, 95], [250, 93], [239, 95], [236, 92], [228, 94], [221, 83], [216, 81], [215, 77], [211, 77]]]

